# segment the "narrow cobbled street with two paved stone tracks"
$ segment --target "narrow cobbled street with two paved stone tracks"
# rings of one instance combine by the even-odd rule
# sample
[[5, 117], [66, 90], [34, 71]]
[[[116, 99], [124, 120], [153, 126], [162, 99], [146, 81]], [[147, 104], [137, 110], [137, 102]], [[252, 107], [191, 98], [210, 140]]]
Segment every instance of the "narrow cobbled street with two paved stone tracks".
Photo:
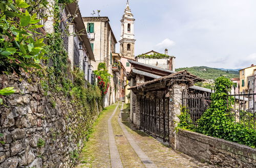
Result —
[[133, 129], [129, 108], [119, 102], [103, 111], [76, 167], [207, 167]]

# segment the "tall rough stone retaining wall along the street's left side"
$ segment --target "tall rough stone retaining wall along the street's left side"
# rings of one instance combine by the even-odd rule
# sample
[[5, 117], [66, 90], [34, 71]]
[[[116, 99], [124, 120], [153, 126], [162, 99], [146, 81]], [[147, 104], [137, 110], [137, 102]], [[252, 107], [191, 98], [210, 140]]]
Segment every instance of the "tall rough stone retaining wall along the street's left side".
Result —
[[72, 167], [97, 109], [81, 111], [72, 97], [44, 91], [36, 76], [0, 76], [7, 86], [16, 93], [0, 105], [0, 167]]

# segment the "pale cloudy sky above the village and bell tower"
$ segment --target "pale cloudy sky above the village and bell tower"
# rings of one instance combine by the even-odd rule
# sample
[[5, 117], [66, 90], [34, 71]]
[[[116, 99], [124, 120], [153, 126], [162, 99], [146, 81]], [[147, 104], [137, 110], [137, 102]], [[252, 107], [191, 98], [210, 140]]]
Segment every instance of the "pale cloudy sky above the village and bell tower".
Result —
[[[151, 50], [164, 53], [167, 48], [176, 57], [176, 68], [240, 69], [256, 64], [255, 0], [129, 2], [136, 19], [135, 55]], [[126, 0], [79, 0], [82, 16], [100, 10], [100, 16], [109, 17], [117, 41], [125, 7]]]

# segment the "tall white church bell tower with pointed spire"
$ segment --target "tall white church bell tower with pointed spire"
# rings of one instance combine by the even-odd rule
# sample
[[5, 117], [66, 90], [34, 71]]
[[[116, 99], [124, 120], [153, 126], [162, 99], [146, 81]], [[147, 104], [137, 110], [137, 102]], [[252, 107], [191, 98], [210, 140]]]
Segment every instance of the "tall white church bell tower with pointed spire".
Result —
[[129, 1], [127, 0], [126, 8], [122, 16], [121, 21], [121, 40], [120, 43], [120, 52], [123, 57], [134, 59], [134, 21], [132, 11], [129, 7]]

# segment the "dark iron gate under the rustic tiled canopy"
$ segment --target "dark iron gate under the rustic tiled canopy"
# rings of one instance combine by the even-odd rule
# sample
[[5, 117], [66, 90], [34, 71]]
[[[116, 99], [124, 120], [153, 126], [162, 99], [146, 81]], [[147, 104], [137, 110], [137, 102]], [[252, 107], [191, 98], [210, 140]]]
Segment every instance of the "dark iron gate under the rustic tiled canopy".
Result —
[[155, 98], [140, 99], [140, 127], [163, 142], [169, 141], [169, 99], [165, 91], [157, 91]]

